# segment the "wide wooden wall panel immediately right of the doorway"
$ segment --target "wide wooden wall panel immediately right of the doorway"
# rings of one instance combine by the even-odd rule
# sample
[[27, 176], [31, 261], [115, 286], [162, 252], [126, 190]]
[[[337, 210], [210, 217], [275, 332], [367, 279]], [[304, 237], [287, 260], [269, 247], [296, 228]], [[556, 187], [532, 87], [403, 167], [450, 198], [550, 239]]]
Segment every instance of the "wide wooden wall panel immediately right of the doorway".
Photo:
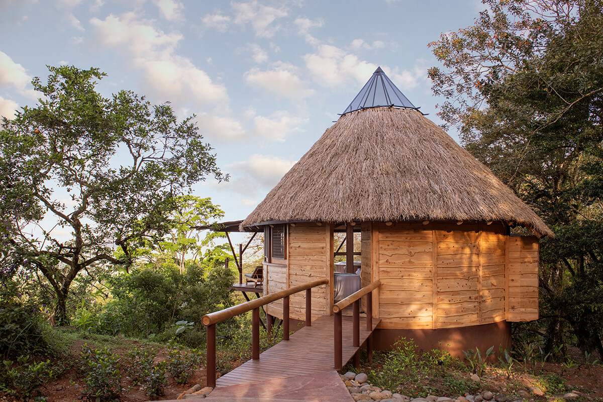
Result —
[[434, 277], [431, 226], [378, 224], [377, 229], [379, 272], [374, 277], [382, 283], [378, 297], [382, 320], [379, 327], [431, 328]]

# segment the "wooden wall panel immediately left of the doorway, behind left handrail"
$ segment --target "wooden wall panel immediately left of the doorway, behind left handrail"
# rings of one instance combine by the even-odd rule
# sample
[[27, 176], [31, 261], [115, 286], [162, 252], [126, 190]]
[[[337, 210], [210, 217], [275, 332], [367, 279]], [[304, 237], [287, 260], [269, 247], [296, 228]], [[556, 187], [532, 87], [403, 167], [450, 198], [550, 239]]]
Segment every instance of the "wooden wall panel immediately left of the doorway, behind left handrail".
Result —
[[[332, 254], [330, 226], [312, 223], [289, 225], [289, 283], [288, 287], [305, 284], [321, 278], [329, 278], [328, 268]], [[312, 319], [329, 314], [329, 286], [312, 289]], [[330, 306], [329, 306], [330, 307]], [[292, 295], [289, 300], [291, 318], [306, 319], [306, 293]]]

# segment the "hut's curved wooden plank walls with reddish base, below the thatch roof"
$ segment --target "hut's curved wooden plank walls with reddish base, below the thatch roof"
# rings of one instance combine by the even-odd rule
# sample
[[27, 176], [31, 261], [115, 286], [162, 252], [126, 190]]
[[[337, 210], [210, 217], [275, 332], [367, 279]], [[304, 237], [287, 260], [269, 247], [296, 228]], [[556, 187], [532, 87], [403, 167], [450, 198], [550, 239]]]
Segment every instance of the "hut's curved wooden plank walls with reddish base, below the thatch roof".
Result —
[[[286, 231], [285, 259], [264, 263], [265, 294], [324, 277], [333, 283], [333, 226], [297, 223]], [[510, 345], [509, 322], [538, 318], [535, 236], [510, 236], [502, 222], [363, 222], [361, 233], [362, 286], [382, 283], [373, 295], [376, 348], [405, 336], [456, 355], [497, 349]], [[329, 315], [332, 304], [332, 287], [312, 289], [313, 319]], [[282, 301], [267, 312], [282, 318]], [[303, 295], [291, 297], [290, 314], [305, 318]]]

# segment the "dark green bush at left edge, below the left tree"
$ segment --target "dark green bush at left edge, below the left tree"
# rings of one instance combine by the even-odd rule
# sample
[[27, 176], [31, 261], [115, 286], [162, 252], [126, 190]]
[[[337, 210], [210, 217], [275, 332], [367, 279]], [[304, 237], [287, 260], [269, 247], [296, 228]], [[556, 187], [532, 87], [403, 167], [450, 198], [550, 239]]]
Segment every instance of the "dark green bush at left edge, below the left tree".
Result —
[[0, 355], [35, 354], [46, 347], [42, 325], [33, 309], [0, 302]]

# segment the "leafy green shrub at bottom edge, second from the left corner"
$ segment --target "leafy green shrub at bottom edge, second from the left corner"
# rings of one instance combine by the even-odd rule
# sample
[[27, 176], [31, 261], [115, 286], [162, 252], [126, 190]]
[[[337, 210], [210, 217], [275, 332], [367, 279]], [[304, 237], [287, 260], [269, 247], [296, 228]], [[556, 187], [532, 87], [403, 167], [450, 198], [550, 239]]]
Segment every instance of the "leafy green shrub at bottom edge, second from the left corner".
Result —
[[96, 402], [111, 401], [121, 392], [121, 374], [119, 374], [119, 357], [109, 348], [90, 349], [82, 347], [81, 370], [84, 377], [84, 392]]

